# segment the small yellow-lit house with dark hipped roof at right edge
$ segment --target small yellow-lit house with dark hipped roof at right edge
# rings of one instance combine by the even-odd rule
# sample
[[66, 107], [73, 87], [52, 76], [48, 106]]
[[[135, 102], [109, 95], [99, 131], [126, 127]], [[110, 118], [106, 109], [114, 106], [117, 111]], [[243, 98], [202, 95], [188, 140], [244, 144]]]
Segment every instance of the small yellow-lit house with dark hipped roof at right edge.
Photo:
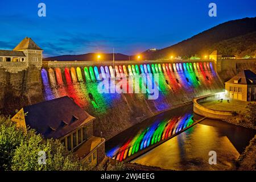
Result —
[[256, 101], [256, 74], [243, 70], [225, 82], [226, 97], [241, 101]]

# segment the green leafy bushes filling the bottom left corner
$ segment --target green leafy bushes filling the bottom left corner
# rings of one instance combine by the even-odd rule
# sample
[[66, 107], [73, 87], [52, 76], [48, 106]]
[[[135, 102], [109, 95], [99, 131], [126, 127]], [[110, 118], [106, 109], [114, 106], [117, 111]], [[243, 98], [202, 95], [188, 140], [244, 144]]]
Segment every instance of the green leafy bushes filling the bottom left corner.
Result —
[[[39, 151], [46, 152], [46, 164], [39, 164]], [[85, 160], [79, 160], [65, 150], [59, 140], [44, 139], [35, 130], [16, 128], [10, 118], [0, 117], [0, 170], [87, 170]]]

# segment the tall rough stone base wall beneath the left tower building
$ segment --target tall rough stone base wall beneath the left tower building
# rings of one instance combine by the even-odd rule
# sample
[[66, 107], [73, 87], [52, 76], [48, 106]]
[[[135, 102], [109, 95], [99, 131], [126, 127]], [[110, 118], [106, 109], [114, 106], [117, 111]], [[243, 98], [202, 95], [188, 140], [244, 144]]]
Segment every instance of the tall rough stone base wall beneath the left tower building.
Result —
[[23, 67], [24, 62], [4, 64], [0, 65], [1, 113], [14, 114], [25, 105], [43, 101], [40, 68]]

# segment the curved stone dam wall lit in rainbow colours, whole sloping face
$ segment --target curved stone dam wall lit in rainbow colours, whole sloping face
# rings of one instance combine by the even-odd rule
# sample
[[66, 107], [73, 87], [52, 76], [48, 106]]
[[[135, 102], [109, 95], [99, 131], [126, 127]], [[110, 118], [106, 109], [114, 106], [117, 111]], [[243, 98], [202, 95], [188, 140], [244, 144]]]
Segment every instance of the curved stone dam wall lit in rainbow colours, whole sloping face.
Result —
[[[114, 68], [114, 69], [113, 69]], [[148, 100], [149, 93], [99, 93], [102, 78], [117, 83], [123, 73], [159, 76], [159, 97]], [[138, 80], [137, 80], [138, 81]], [[203, 61], [49, 61], [42, 68], [46, 100], [69, 96], [94, 117], [94, 133], [106, 139], [135, 123], [163, 111], [188, 104], [193, 98], [224, 89], [210, 60]], [[136, 80], [133, 80], [136, 84]], [[145, 85], [142, 79], [141, 86]], [[128, 87], [131, 85], [127, 85]]]

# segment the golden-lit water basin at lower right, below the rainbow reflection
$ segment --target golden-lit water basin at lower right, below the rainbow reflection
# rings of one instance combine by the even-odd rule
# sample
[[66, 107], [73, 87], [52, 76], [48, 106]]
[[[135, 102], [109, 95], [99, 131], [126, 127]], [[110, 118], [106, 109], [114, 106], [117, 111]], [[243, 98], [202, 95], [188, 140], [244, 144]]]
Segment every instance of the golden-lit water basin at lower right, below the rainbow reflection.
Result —
[[[133, 163], [176, 170], [232, 169], [255, 131], [206, 119], [168, 140]], [[210, 165], [209, 151], [216, 151], [217, 164]]]

